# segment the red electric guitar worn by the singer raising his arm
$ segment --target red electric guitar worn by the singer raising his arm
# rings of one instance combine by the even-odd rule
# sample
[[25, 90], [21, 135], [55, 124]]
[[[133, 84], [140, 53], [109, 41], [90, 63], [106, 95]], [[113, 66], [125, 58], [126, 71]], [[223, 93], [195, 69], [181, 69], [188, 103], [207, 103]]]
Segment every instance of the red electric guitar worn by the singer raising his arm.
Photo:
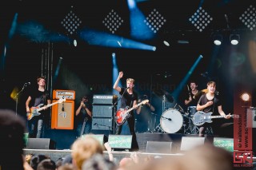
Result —
[[[144, 101], [140, 102], [138, 104], [138, 106], [145, 105], [148, 102], [149, 102], [149, 100], [144, 100]], [[135, 108], [118, 109], [117, 113], [115, 114], [115, 121], [116, 121], [117, 125], [123, 125], [126, 122], [126, 120], [128, 119], [128, 117], [130, 117], [130, 111], [132, 111], [133, 109], [135, 109]]]

